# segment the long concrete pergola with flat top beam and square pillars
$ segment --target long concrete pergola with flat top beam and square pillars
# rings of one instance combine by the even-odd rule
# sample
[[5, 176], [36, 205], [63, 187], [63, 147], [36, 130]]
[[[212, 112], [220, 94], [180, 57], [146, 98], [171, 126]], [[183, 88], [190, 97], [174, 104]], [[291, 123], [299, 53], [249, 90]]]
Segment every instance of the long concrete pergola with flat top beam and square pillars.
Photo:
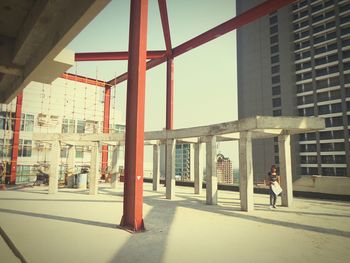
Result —
[[[145, 132], [145, 145], [153, 145], [153, 190], [159, 188], [159, 145], [166, 144], [166, 198], [175, 195], [175, 144], [176, 141], [195, 145], [194, 193], [200, 194], [203, 170], [201, 169], [201, 148], [206, 145], [206, 203], [217, 204], [216, 142], [239, 140], [239, 171], [241, 210], [252, 211], [253, 201], [253, 159], [252, 140], [278, 136], [282, 205], [293, 203], [290, 136], [325, 128], [325, 122], [317, 117], [270, 117], [256, 116], [238, 121], [184, 129]], [[57, 171], [59, 144], [90, 145], [91, 172], [90, 194], [98, 193], [98, 148], [102, 143], [116, 146], [125, 143], [124, 134], [33, 134], [33, 140], [52, 142], [49, 193], [57, 192]], [[70, 148], [73, 151], [74, 147]], [[69, 156], [74, 156], [69, 153]], [[70, 159], [69, 165], [74, 165]], [[139, 180], [141, 177], [138, 178]], [[125, 200], [124, 200], [125, 202]]]

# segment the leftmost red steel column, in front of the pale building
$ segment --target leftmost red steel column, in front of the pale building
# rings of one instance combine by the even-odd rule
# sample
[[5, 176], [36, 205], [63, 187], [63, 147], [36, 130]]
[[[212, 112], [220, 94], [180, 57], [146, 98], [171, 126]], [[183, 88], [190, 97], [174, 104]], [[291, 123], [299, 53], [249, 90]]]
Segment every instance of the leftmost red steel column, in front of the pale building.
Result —
[[12, 138], [11, 175], [10, 184], [16, 184], [16, 169], [18, 159], [19, 132], [21, 129], [23, 91], [17, 95], [15, 127]]

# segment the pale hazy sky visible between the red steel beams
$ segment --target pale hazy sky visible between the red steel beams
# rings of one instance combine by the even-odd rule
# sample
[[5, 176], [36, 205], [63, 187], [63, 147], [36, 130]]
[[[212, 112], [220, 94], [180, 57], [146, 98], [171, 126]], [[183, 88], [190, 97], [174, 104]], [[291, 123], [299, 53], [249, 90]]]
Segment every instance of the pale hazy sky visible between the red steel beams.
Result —
[[[235, 0], [168, 0], [173, 48], [233, 18]], [[157, 0], [149, 0], [147, 50], [164, 50]], [[129, 0], [112, 0], [69, 44], [75, 52], [127, 51]], [[78, 62], [71, 73], [110, 80], [127, 71], [127, 61]], [[174, 129], [237, 120], [236, 32], [227, 33], [174, 59]], [[124, 116], [126, 82], [116, 89], [116, 108]], [[145, 130], [165, 127], [166, 63], [147, 71]], [[237, 143], [217, 150], [238, 167]], [[151, 156], [145, 152], [145, 160]]]

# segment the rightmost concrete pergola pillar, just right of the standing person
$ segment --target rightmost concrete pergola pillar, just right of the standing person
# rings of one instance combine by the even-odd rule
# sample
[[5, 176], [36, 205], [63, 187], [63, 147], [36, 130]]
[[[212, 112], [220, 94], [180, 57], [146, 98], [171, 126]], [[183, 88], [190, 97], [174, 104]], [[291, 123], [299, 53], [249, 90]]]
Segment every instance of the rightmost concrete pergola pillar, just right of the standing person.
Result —
[[278, 136], [282, 205], [290, 207], [293, 204], [292, 163], [290, 154], [290, 135]]

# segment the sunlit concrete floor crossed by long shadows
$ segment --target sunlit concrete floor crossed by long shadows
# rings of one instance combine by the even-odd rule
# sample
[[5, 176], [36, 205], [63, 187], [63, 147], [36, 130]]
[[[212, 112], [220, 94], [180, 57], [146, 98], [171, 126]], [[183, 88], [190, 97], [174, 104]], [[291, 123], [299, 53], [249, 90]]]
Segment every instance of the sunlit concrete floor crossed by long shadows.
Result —
[[[270, 210], [255, 195], [255, 211], [239, 210], [237, 192], [219, 192], [216, 206], [205, 192], [144, 185], [147, 231], [117, 228], [122, 186], [100, 185], [98, 196], [47, 187], [0, 191], [0, 226], [27, 262], [348, 262], [350, 203], [295, 199], [293, 208]], [[280, 200], [279, 200], [280, 201]], [[0, 238], [0, 262], [20, 262]]]

